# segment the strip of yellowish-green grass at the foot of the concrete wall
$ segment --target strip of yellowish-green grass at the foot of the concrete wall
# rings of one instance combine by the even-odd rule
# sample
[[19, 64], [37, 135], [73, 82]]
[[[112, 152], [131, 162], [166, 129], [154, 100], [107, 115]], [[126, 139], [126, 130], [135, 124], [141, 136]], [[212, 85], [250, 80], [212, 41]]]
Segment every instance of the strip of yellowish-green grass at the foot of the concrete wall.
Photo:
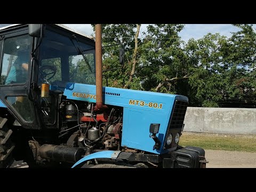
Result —
[[256, 153], [256, 135], [183, 133], [179, 145]]

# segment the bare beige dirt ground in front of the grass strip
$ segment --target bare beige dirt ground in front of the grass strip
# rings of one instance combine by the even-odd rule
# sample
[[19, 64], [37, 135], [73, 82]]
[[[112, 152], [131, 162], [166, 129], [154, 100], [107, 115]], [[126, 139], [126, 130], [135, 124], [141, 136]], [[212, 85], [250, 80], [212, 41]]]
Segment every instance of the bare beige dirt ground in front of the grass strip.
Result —
[[256, 168], [256, 153], [205, 149], [206, 168]]

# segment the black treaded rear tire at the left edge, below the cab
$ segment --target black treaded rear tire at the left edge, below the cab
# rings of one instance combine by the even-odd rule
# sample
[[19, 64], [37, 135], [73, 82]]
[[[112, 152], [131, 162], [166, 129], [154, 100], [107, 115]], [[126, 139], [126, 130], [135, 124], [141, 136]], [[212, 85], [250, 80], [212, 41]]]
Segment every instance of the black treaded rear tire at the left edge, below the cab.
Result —
[[0, 117], [0, 168], [10, 167], [14, 159], [14, 143], [10, 140], [12, 130], [7, 125], [7, 118]]

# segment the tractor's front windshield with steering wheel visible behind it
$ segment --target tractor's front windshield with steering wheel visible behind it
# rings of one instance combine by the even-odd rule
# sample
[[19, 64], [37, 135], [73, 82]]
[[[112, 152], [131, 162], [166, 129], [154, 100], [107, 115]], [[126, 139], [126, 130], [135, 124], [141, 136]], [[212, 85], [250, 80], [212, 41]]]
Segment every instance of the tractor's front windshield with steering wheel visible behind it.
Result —
[[[84, 54], [84, 57], [83, 57]], [[40, 45], [38, 84], [67, 82], [95, 85], [95, 48], [85, 37], [47, 30]]]

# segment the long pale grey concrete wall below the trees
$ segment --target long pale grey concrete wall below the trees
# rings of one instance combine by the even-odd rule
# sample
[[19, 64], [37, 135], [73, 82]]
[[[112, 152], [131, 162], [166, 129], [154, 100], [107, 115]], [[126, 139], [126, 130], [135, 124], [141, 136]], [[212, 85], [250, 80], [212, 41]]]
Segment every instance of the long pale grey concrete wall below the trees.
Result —
[[256, 134], [256, 109], [188, 107], [183, 131]]

